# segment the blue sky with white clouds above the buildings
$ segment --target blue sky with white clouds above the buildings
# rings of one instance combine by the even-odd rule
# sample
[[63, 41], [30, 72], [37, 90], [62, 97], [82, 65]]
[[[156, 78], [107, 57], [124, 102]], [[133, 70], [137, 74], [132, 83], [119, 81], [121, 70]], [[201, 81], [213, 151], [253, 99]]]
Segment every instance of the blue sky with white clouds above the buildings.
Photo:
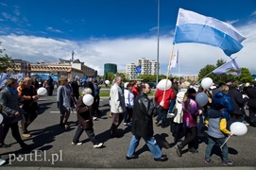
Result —
[[229, 61], [218, 47], [173, 44], [179, 8], [234, 26], [247, 39], [231, 58], [256, 74], [256, 0], [0, 0], [0, 48], [12, 59], [34, 63], [58, 63], [74, 51], [75, 59], [100, 76], [105, 63], [123, 72], [141, 58], [159, 58], [160, 74], [166, 75], [170, 54], [177, 50], [179, 64], [170, 71], [175, 76], [198, 75], [218, 59]]

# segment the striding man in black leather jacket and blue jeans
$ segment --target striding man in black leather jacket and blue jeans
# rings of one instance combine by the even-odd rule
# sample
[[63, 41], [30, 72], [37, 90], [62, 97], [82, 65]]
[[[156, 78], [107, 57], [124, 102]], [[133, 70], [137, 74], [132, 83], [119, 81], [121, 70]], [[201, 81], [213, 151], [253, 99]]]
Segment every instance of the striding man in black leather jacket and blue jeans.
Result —
[[[136, 97], [132, 113], [132, 138], [128, 147], [127, 160], [139, 158], [139, 156], [135, 154], [135, 150], [141, 138], [143, 138], [155, 161], [167, 161], [166, 155], [162, 155], [162, 150], [153, 136], [152, 115], [156, 108], [153, 102], [147, 97], [147, 93], [150, 93], [151, 89], [146, 83], [143, 83], [140, 88], [140, 92], [142, 93]], [[163, 102], [161, 102], [160, 105], [163, 106]]]

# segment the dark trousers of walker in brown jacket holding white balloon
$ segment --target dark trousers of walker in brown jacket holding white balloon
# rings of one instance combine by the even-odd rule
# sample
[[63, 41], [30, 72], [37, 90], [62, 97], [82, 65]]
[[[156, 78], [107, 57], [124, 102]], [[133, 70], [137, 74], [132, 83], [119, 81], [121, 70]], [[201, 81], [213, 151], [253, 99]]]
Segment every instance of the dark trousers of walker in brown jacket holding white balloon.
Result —
[[89, 137], [89, 139], [92, 141], [93, 144], [98, 144], [98, 141], [95, 139], [94, 128], [85, 130], [81, 126], [77, 126], [77, 130], [76, 130], [75, 136], [73, 138], [73, 143], [79, 142], [79, 138], [83, 131], [86, 132], [87, 136]]

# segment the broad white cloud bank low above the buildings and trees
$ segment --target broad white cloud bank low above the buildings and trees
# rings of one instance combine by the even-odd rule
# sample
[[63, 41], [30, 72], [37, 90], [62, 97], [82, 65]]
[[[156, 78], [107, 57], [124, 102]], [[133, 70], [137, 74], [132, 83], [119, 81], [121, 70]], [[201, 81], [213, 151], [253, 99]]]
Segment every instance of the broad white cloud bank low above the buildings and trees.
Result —
[[[255, 69], [255, 42], [256, 30], [251, 29], [256, 24], [249, 24], [237, 29], [247, 37], [242, 42], [244, 48], [232, 55], [237, 57], [240, 67], [247, 67], [252, 74]], [[53, 28], [52, 28], [53, 29]], [[157, 37], [147, 38], [119, 38], [119, 39], [90, 39], [82, 42], [69, 40], [54, 40], [35, 36], [0, 36], [2, 47], [13, 59], [25, 59], [31, 62], [45, 61], [58, 62], [60, 59], [71, 59], [75, 51], [75, 59], [85, 62], [86, 65], [104, 73], [104, 63], [116, 63], [118, 71], [124, 71], [128, 63], [136, 63], [137, 59], [146, 58], [157, 60]], [[161, 74], [165, 75], [172, 50], [173, 37], [160, 37], [159, 60]], [[1, 47], [1, 46], [0, 46]], [[174, 52], [179, 49], [179, 69], [171, 70], [173, 75], [197, 75], [199, 70], [207, 64], [216, 64], [217, 59], [230, 60], [220, 48], [197, 44], [179, 43], [174, 46]]]

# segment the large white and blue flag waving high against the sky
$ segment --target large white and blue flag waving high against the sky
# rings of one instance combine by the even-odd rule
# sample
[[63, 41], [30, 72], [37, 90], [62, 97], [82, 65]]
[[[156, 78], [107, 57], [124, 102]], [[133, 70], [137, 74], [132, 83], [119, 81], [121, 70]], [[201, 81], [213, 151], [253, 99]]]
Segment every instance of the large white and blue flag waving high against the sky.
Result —
[[236, 28], [212, 17], [179, 8], [174, 43], [196, 42], [220, 47], [227, 56], [243, 48], [246, 38]]

